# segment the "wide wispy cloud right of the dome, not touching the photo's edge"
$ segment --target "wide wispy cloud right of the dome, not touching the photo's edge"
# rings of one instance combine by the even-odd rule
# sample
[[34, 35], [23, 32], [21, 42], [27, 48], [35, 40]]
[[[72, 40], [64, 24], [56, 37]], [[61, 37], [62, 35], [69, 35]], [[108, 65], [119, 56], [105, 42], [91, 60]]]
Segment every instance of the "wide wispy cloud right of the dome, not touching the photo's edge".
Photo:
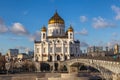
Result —
[[107, 21], [102, 17], [93, 18], [93, 27], [94, 28], [107, 28], [107, 27], [115, 27], [115, 24]]

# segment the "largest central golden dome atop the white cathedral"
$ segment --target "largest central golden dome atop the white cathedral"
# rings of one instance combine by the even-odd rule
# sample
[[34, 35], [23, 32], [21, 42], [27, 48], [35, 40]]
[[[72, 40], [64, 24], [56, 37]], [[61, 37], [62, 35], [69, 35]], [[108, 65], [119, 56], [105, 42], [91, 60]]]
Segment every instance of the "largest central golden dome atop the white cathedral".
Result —
[[64, 20], [58, 15], [57, 12], [49, 19], [48, 22], [48, 24], [54, 24], [54, 23], [64, 24]]

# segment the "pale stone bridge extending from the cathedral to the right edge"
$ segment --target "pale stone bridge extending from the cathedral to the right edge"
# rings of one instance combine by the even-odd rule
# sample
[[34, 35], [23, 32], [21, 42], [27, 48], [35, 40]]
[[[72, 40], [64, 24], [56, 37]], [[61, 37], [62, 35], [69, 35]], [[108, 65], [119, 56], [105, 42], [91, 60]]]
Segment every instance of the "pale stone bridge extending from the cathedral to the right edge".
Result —
[[[53, 62], [47, 63], [50, 64], [50, 66], [53, 65]], [[82, 63], [97, 69], [106, 80], [120, 80], [120, 60], [80, 57], [54, 63], [58, 63], [59, 68], [61, 65], [66, 66], [69, 73], [71, 72], [71, 66], [73, 64]]]

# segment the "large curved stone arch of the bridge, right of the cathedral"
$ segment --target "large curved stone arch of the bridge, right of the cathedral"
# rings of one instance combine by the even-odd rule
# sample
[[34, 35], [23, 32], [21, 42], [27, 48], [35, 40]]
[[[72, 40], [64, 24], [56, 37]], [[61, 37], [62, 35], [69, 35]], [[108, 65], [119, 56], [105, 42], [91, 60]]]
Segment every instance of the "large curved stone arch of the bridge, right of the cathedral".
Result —
[[100, 66], [99, 64], [96, 64], [93, 60], [72, 59], [67, 60], [63, 64], [67, 66], [68, 72], [70, 72], [70, 66], [73, 65], [74, 63], [82, 63], [84, 65], [91, 66], [97, 69], [106, 80], [112, 80], [112, 74], [114, 74], [114, 72], [110, 71], [109, 69], [103, 66]]

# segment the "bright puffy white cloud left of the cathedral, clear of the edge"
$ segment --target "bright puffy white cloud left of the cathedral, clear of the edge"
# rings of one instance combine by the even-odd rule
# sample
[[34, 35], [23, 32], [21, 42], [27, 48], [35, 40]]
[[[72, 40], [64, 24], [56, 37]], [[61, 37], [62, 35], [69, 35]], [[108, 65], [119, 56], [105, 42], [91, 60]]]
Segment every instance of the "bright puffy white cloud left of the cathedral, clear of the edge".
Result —
[[28, 31], [21, 23], [14, 23], [10, 31], [16, 35], [28, 35]]

